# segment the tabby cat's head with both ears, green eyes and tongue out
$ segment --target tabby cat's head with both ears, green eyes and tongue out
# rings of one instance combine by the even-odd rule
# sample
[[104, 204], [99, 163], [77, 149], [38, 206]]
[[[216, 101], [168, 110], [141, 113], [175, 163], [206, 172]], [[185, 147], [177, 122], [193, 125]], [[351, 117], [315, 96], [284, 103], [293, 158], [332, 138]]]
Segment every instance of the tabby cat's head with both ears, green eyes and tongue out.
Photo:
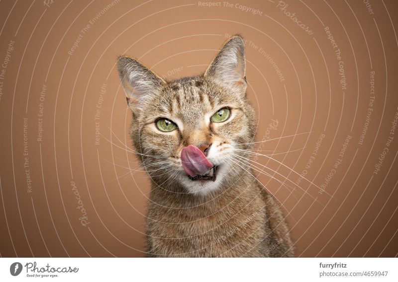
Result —
[[247, 169], [236, 158], [249, 158], [245, 150], [255, 134], [245, 70], [239, 36], [224, 43], [200, 76], [165, 81], [133, 58], [119, 58], [131, 138], [157, 189], [207, 194], [233, 185]]

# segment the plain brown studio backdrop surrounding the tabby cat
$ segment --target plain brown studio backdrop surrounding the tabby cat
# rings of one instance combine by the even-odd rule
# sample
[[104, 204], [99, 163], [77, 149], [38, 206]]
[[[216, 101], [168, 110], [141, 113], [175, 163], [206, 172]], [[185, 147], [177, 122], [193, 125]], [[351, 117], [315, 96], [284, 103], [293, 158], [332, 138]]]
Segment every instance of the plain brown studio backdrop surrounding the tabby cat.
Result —
[[[276, 139], [257, 147], [262, 153], [280, 153], [256, 161], [286, 186], [259, 178], [283, 203], [298, 256], [397, 256], [397, 131], [390, 135], [398, 111], [396, 1], [369, 0], [372, 14], [363, 1], [287, 0], [285, 11], [295, 12], [312, 35], [276, 0], [244, 2], [258, 14], [235, 1], [227, 2], [232, 7], [224, 2], [203, 7], [198, 1], [121, 0], [108, 8], [110, 0], [56, 0], [49, 6], [43, 1], [0, 2], [0, 63], [10, 58], [0, 67], [5, 70], [0, 79], [2, 257], [144, 256], [149, 181], [144, 172], [134, 171], [136, 159], [126, 150], [131, 148], [131, 117], [116, 58], [139, 58], [168, 79], [189, 76], [204, 71], [226, 37], [235, 33], [246, 39], [257, 141]], [[326, 26], [341, 51], [346, 89]], [[10, 41], [13, 50], [7, 55]], [[375, 101], [359, 144], [371, 71]], [[43, 84], [47, 88], [40, 101]], [[103, 84], [106, 94], [99, 104]], [[38, 141], [41, 102], [43, 139]], [[278, 126], [267, 132], [272, 119]], [[306, 174], [313, 184], [304, 179], [298, 183], [321, 134], [325, 137]], [[342, 162], [322, 192], [318, 187], [347, 136], [352, 138]], [[375, 174], [389, 136], [394, 139]], [[87, 211], [86, 226], [79, 219], [72, 181]]]

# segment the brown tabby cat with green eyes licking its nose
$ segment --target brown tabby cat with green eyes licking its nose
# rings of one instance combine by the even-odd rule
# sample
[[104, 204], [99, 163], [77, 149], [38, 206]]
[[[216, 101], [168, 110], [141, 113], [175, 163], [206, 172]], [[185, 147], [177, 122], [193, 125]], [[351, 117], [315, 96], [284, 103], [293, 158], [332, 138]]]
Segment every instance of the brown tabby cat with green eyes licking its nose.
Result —
[[148, 257], [293, 257], [285, 216], [255, 178], [245, 46], [229, 38], [198, 76], [166, 81], [120, 56], [130, 136], [151, 179]]

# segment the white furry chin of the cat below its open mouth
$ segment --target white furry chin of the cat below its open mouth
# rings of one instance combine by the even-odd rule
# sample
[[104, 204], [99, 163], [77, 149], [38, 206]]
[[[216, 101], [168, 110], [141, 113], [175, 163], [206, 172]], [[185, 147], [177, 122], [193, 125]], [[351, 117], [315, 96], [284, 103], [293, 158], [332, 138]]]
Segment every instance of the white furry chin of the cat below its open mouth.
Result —
[[214, 166], [212, 175], [186, 177], [181, 180], [181, 184], [188, 193], [198, 196], [205, 196], [220, 188], [223, 178], [226, 174], [226, 166]]

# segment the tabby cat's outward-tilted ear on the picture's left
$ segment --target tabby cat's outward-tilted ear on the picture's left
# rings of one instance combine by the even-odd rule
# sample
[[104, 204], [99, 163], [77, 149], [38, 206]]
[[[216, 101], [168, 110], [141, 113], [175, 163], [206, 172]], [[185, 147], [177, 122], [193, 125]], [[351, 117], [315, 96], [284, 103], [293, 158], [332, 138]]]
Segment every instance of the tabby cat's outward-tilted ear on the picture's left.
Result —
[[150, 95], [157, 87], [166, 83], [156, 73], [128, 56], [119, 57], [117, 71], [131, 109], [138, 106], [140, 100], [145, 99], [146, 95]]

